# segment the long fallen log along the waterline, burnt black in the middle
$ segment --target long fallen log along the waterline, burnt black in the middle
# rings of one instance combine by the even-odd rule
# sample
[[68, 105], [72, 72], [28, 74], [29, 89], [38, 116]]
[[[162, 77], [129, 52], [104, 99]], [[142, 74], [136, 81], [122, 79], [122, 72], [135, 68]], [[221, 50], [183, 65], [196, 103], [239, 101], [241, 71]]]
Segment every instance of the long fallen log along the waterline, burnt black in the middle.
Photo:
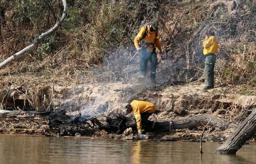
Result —
[[[127, 128], [132, 128], [136, 131], [135, 121], [133, 118], [128, 118], [120, 114], [115, 117], [107, 117], [104, 125], [100, 123], [97, 118], [92, 117], [89, 120], [81, 120], [79, 116], [69, 117], [65, 111], [6, 111], [0, 110], [0, 120], [30, 120], [40, 125], [48, 125], [50, 129], [60, 129], [60, 136], [74, 135], [75, 132], [79, 132], [81, 135], [90, 134], [95, 128], [105, 130], [107, 132], [115, 132], [121, 134]], [[227, 121], [223, 121], [221, 118], [215, 115], [202, 114], [198, 116], [192, 116], [189, 118], [174, 119], [172, 121], [158, 121], [156, 123], [156, 130], [168, 132], [174, 129], [192, 129], [198, 126], [204, 126], [209, 122], [209, 126], [219, 127], [222, 130], [228, 128], [236, 128], [237, 125]], [[86, 125], [86, 126], [85, 126]]]

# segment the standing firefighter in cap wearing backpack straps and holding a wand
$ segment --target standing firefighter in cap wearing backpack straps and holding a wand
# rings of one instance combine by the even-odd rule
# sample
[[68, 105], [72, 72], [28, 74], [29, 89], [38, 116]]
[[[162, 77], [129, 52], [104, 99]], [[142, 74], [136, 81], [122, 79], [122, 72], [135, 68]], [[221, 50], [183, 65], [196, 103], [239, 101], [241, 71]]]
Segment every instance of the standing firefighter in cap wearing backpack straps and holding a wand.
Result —
[[[145, 43], [145, 44], [144, 44]], [[144, 46], [142, 49], [141, 45]], [[159, 54], [162, 54], [162, 49], [159, 43], [158, 35], [158, 22], [153, 21], [151, 24], [142, 27], [140, 32], [134, 39], [134, 45], [138, 52], [140, 53], [140, 78], [145, 78], [147, 73], [148, 61], [150, 61], [151, 73], [150, 80], [152, 83], [156, 83], [156, 47], [160, 51]], [[156, 46], [156, 47], [155, 47]]]

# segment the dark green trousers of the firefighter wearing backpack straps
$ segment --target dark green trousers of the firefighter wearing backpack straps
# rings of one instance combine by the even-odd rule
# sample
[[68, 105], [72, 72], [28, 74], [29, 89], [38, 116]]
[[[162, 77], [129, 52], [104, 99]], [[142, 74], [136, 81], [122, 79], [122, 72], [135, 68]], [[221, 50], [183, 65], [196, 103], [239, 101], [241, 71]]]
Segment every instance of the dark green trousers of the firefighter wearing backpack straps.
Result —
[[156, 66], [157, 66], [157, 58], [156, 58], [156, 49], [153, 52], [149, 52], [146, 48], [143, 48], [140, 52], [140, 73], [143, 77], [146, 76], [148, 61], [150, 61], [151, 74], [150, 77], [156, 77]]

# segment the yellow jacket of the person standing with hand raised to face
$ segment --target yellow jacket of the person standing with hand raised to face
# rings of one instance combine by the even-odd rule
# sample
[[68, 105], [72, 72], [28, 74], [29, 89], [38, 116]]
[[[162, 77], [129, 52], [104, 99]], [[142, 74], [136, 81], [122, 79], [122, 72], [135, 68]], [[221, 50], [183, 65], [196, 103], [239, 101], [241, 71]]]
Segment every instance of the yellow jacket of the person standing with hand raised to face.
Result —
[[205, 38], [204, 40], [204, 55], [209, 53], [215, 54], [218, 50], [218, 42], [215, 36], [211, 36], [210, 38]]

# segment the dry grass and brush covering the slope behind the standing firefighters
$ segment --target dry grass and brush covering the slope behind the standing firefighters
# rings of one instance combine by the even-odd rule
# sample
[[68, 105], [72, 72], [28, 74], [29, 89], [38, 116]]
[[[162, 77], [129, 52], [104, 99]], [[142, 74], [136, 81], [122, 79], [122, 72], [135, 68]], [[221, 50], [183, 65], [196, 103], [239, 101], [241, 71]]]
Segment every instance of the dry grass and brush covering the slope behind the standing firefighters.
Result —
[[[1, 26], [0, 61], [27, 46], [35, 35], [55, 24], [56, 16], [62, 11], [61, 2], [51, 2], [49, 8], [44, 7], [43, 1], [30, 0], [26, 1], [28, 4], [24, 8], [18, 5], [19, 1], [13, 1], [13, 4], [6, 2], [13, 5], [12, 8], [3, 5], [7, 15], [5, 25]], [[246, 1], [237, 9], [237, 15], [230, 17], [225, 17], [225, 8], [214, 11], [210, 16], [210, 4], [199, 0], [168, 2], [68, 2], [68, 15], [61, 28], [36, 49], [0, 70], [0, 100], [4, 100], [13, 87], [25, 86], [22, 93], [33, 109], [50, 110], [53, 109], [51, 102], [54, 98], [52, 87], [56, 84], [65, 86], [128, 80], [130, 74], [138, 71], [138, 66], [128, 66], [129, 59], [135, 53], [133, 38], [139, 27], [153, 19], [160, 22], [160, 41], [165, 50], [165, 59], [172, 57], [175, 61], [185, 58], [189, 81], [202, 82], [204, 79], [202, 39], [211, 28], [223, 44], [221, 52], [217, 54], [217, 84], [239, 84], [254, 94], [250, 87], [253, 88], [255, 83], [253, 41], [256, 37], [255, 30], [248, 28], [254, 27], [256, 22], [252, 2]], [[44, 14], [40, 15], [41, 12]], [[241, 24], [244, 20], [252, 21]], [[205, 21], [204, 28], [189, 42]], [[229, 44], [230, 38], [238, 36], [239, 44]], [[175, 55], [168, 56], [171, 51]], [[5, 104], [1, 104], [4, 107]]]

